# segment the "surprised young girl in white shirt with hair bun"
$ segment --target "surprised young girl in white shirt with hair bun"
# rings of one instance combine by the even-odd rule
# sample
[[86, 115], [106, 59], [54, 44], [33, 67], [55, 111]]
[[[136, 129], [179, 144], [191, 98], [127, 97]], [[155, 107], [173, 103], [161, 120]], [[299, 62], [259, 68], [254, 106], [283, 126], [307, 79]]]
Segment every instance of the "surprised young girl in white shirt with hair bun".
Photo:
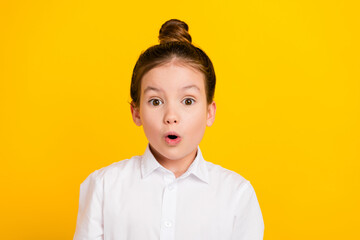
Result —
[[[149, 141], [141, 156], [91, 173], [80, 185], [75, 240], [260, 240], [253, 187], [207, 162], [199, 148], [215, 119], [215, 72], [172, 19], [142, 53], [131, 82], [131, 114]], [[226, 151], [226, 149], [224, 149]]]

